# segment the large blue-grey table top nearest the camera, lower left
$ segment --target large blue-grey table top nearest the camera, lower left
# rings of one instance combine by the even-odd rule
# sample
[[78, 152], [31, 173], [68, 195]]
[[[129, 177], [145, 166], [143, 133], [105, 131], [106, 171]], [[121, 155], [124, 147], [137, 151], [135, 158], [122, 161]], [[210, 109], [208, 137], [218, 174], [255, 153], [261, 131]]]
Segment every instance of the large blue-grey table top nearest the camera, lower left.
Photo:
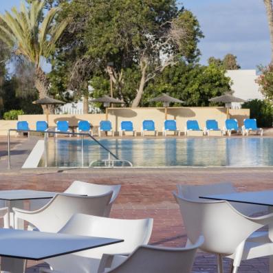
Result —
[[0, 256], [39, 261], [124, 240], [0, 228]]

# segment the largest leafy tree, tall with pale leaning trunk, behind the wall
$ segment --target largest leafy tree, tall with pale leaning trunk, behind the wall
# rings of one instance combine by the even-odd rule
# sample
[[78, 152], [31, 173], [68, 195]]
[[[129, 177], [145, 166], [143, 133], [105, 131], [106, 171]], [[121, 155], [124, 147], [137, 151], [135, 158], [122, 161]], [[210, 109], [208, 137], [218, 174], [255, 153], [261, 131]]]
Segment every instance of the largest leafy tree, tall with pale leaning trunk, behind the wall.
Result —
[[[70, 1], [61, 16], [72, 20], [56, 58], [71, 61], [65, 68], [69, 82], [63, 83], [80, 93], [94, 77], [111, 78], [114, 94], [138, 106], [150, 80], [182, 58], [194, 62], [199, 56], [199, 23], [191, 12], [178, 10], [175, 0]], [[130, 94], [127, 77], [138, 78]]]

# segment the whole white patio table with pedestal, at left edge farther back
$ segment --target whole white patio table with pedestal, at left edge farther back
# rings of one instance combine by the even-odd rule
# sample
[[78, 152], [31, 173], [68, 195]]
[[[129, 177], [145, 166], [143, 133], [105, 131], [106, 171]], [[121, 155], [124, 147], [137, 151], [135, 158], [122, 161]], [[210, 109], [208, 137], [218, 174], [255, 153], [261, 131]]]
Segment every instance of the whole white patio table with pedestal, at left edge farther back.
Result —
[[[6, 201], [6, 207], [8, 207], [8, 221], [10, 226], [13, 227], [13, 217], [11, 217], [10, 212], [12, 208], [23, 208], [24, 200], [31, 199], [51, 199], [57, 193], [50, 191], [40, 191], [40, 190], [0, 190], [0, 200]], [[23, 225], [23, 221], [21, 223]], [[23, 228], [23, 227], [21, 227]]]

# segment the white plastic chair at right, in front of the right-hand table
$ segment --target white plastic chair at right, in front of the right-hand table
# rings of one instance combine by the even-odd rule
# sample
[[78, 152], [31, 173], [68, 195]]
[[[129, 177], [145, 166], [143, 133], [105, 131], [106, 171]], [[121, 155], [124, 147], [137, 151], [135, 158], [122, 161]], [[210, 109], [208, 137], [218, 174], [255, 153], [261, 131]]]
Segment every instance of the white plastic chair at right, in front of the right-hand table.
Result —
[[273, 213], [261, 217], [247, 217], [228, 201], [205, 203], [184, 199], [176, 193], [173, 195], [182, 214], [188, 236], [187, 244], [196, 241], [202, 234], [204, 244], [200, 249], [217, 254], [219, 272], [223, 272], [222, 256], [233, 259], [233, 273], [236, 273], [241, 260], [273, 254], [273, 243], [268, 236], [253, 236], [256, 230], [272, 223]]

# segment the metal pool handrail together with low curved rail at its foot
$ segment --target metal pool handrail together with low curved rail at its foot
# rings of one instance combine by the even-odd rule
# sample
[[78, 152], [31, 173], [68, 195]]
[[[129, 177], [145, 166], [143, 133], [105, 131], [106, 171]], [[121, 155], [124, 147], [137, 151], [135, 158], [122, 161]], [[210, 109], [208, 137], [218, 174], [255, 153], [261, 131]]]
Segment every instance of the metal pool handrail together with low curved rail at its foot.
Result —
[[[120, 160], [117, 155], [112, 153], [107, 147], [101, 144], [96, 138], [94, 138], [91, 133], [70, 133], [70, 132], [56, 132], [56, 131], [35, 131], [35, 130], [17, 130], [17, 129], [9, 129], [8, 130], [8, 168], [10, 169], [10, 132], [15, 131], [17, 133], [44, 133], [45, 134], [45, 168], [48, 165], [48, 135], [52, 133], [54, 136], [58, 133], [61, 135], [80, 135], [81, 137], [81, 167], [84, 168], [84, 160], [83, 160], [83, 137], [88, 136], [96, 144], [98, 144], [102, 149], [107, 151], [108, 158], [106, 160], [94, 160], [89, 164], [89, 168], [118, 168], [118, 167], [132, 167], [133, 164], [128, 160]], [[111, 158], [113, 157], [113, 158]]]

